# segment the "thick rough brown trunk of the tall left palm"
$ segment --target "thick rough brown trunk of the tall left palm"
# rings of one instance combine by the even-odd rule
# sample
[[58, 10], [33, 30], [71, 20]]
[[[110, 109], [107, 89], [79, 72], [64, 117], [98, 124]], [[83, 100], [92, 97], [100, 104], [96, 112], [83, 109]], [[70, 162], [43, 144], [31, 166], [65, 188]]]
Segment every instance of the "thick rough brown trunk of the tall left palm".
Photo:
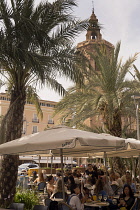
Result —
[[[2, 142], [8, 142], [22, 135], [25, 91], [13, 90], [9, 110], [2, 121]], [[18, 155], [4, 155], [0, 173], [0, 206], [7, 207], [16, 192]]]

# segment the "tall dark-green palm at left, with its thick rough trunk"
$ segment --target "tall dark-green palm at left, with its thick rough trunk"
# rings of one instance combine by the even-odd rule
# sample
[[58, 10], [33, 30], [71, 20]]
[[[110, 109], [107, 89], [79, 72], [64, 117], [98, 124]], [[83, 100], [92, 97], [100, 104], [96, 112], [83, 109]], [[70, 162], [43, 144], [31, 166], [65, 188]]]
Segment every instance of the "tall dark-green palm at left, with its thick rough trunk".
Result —
[[[29, 95], [35, 101], [37, 84], [64, 95], [57, 76], [82, 83], [81, 56], [75, 53], [73, 40], [86, 29], [87, 21], [71, 15], [73, 6], [75, 0], [46, 1], [36, 7], [34, 0], [10, 0], [9, 5], [0, 1], [0, 73], [8, 81], [11, 96], [2, 121], [1, 143], [21, 137], [25, 101]], [[17, 166], [18, 156], [3, 156], [1, 206], [13, 199]]]

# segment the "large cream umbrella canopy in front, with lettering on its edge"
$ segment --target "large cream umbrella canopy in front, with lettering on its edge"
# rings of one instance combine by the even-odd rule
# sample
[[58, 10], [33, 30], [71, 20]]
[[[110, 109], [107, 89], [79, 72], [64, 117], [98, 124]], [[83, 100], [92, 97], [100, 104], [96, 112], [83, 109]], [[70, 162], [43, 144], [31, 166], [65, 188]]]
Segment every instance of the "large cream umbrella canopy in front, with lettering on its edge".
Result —
[[97, 134], [66, 126], [57, 126], [0, 145], [0, 154], [42, 154], [53, 150], [64, 155], [86, 154], [125, 148], [125, 140], [109, 134]]

